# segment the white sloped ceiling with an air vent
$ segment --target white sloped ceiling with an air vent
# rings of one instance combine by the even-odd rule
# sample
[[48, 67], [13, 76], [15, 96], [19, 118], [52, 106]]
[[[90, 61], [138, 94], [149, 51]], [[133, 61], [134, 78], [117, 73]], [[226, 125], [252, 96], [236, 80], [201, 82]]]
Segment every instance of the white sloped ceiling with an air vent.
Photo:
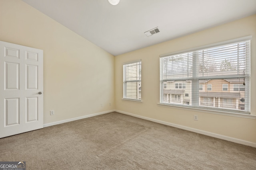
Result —
[[256, 14], [256, 0], [23, 1], [115, 56]]

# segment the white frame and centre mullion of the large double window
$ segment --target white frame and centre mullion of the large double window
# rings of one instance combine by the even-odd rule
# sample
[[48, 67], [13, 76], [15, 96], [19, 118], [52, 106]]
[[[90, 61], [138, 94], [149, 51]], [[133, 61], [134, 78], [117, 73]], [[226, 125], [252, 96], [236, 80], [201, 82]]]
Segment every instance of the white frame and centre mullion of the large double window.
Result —
[[[186, 50], [182, 50], [182, 51], [177, 51], [177, 52], [172, 52], [172, 53], [167, 53], [167, 54], [163, 54], [163, 55], [160, 55], [160, 84], [162, 84], [162, 82], [164, 82], [164, 81], [177, 81], [177, 80], [183, 80], [183, 81], [191, 81], [191, 79], [193, 79], [193, 78], [191, 78], [191, 77], [189, 77], [189, 78], [180, 78], [180, 79], [178, 79], [178, 78], [173, 78], [173, 79], [166, 79], [166, 80], [164, 80], [164, 78], [163, 78], [163, 76], [162, 76], [162, 74], [164, 74], [163, 72], [161, 72], [162, 70], [162, 61], [161, 61], [161, 58], [163, 58], [163, 57], [169, 57], [169, 56], [172, 56], [172, 55], [181, 55], [182, 53], [192, 53], [192, 51], [200, 51], [200, 50], [203, 50], [203, 49], [207, 49], [207, 48], [215, 48], [215, 47], [218, 47], [218, 46], [221, 46], [221, 45], [224, 45], [224, 46], [227, 46], [227, 45], [229, 45], [229, 44], [232, 44], [232, 43], [240, 43], [241, 41], [246, 41], [246, 47], [248, 47], [248, 49], [250, 49], [250, 40], [252, 39], [252, 36], [246, 36], [246, 37], [241, 37], [241, 38], [238, 38], [238, 39], [232, 39], [232, 40], [228, 40], [228, 41], [223, 41], [223, 42], [219, 42], [219, 43], [214, 43], [214, 44], [210, 44], [210, 45], [204, 45], [204, 46], [201, 46], [201, 47], [196, 47], [196, 48], [192, 48], [192, 49], [186, 49]], [[248, 41], [248, 43], [247, 43], [247, 41]], [[247, 46], [248, 45], [248, 46]], [[247, 50], [247, 49], [246, 49]], [[249, 53], [249, 54], [248, 54]], [[194, 57], [194, 55], [193, 55], [193, 57]], [[248, 52], [246, 52], [246, 57], [245, 57], [245, 60], [246, 60], [246, 70], [248, 71], [248, 70], [250, 70], [250, 65], [251, 65], [251, 63], [250, 63], [250, 51]], [[193, 68], [194, 69], [194, 68]], [[209, 111], [209, 112], [213, 112], [213, 113], [216, 113], [217, 112], [217, 114], [219, 113], [219, 112], [221, 112], [221, 113], [235, 113], [235, 114], [241, 114], [241, 115], [250, 115], [250, 72], [247, 72], [246, 71], [246, 74], [244, 74], [244, 78], [246, 79], [245, 80], [245, 84], [246, 84], [246, 86], [245, 86], [245, 90], [246, 90], [246, 94], [248, 94], [248, 96], [245, 96], [246, 97], [246, 101], [248, 101], [248, 102], [246, 102], [246, 111], [242, 111], [242, 110], [229, 110], [229, 109], [214, 109], [214, 108], [204, 108], [204, 107], [200, 107], [200, 106], [198, 106], [198, 102], [197, 102], [197, 106], [196, 106], [196, 102], [194, 102], [194, 106], [193, 106], [193, 104], [192, 104], [192, 106], [184, 106], [184, 105], [177, 105], [177, 104], [174, 104], [174, 103], [164, 103], [163, 102], [163, 100], [162, 100], [162, 93], [163, 93], [163, 91], [162, 91], [162, 89], [160, 88], [160, 105], [168, 105], [168, 106], [173, 106], [173, 107], [183, 107], [183, 108], [188, 108], [188, 109], [199, 109], [199, 110], [202, 110], [202, 111]], [[224, 78], [236, 78], [236, 76], [238, 76], [239, 74], [237, 74], [237, 75], [234, 75], [234, 76], [209, 76], [208, 77], [208, 79], [224, 79]], [[192, 89], [194, 89], [194, 88], [197, 88], [197, 91], [198, 92], [196, 92], [196, 94], [194, 93], [193, 94], [193, 92], [192, 92], [192, 96], [193, 95], [195, 95], [195, 96], [197, 96], [198, 95], [198, 93], [199, 93], [199, 80], [206, 80], [206, 79], [204, 79], [204, 78], [198, 78], [196, 81], [194, 81], [193, 82], [193, 80], [192, 80]], [[161, 86], [160, 86], [161, 87]], [[194, 88], [193, 88], [194, 87]], [[206, 87], [205, 87], [206, 88]], [[231, 88], [231, 87], [230, 87]], [[204, 90], [204, 89], [200, 89], [201, 91], [202, 90]], [[211, 90], [213, 90], [213, 89], [211, 89]], [[192, 90], [193, 91], [193, 90]], [[193, 98], [193, 97], [192, 97]], [[197, 97], [198, 98], [198, 97]], [[198, 100], [198, 99], [197, 99]]]

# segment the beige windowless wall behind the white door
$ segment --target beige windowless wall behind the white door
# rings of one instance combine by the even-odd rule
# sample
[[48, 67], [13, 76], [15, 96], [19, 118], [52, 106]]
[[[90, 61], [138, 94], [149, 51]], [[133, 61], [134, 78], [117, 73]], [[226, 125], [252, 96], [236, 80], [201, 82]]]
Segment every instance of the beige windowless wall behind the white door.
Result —
[[114, 56], [60, 23], [1, 0], [0, 41], [44, 50], [44, 124], [114, 109]]

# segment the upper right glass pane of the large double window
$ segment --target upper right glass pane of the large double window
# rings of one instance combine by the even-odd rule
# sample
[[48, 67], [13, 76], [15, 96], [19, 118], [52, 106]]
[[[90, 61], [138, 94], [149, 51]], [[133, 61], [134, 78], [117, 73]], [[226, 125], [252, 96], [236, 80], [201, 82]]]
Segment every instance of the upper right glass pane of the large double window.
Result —
[[198, 76], [243, 74], [246, 69], [246, 42], [198, 51]]

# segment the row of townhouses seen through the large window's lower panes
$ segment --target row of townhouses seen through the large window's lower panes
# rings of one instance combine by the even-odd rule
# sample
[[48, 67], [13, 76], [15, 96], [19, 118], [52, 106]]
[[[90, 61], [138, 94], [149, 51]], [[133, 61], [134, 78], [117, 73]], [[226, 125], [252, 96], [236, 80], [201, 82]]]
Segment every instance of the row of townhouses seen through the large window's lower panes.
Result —
[[[199, 81], [199, 105], [244, 110], [243, 79], [215, 79]], [[164, 102], [192, 105], [191, 81], [164, 83]]]

